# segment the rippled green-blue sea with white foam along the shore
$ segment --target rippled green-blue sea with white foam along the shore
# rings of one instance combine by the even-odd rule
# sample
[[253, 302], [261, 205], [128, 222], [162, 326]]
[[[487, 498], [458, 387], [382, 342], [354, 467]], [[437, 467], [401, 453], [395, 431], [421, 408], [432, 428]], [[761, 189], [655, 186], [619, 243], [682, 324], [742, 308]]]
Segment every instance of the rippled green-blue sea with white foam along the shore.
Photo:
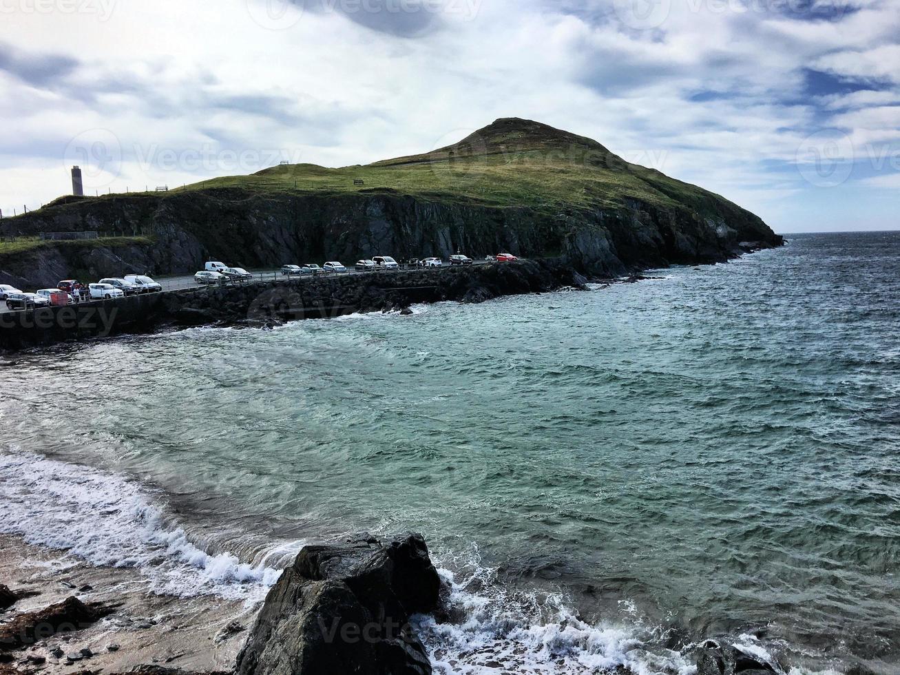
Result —
[[448, 672], [689, 672], [722, 635], [896, 672], [900, 233], [657, 275], [15, 356], [0, 529], [248, 601], [305, 541], [417, 529]]

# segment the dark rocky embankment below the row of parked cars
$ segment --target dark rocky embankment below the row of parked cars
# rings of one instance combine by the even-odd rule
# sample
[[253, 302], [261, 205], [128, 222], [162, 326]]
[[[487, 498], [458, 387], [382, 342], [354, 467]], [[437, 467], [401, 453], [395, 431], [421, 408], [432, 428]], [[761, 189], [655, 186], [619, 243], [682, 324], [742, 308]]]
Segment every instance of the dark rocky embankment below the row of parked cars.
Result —
[[[742, 250], [750, 253], [764, 247], [747, 244]], [[741, 250], [735, 251], [735, 257], [739, 254]], [[410, 305], [417, 303], [486, 302], [562, 288], [585, 289], [589, 282], [615, 284], [645, 278], [634, 272], [616, 279], [589, 279], [558, 258], [306, 280], [285, 277], [0, 313], [0, 350], [196, 326], [266, 329], [294, 320], [374, 311], [409, 314]]]

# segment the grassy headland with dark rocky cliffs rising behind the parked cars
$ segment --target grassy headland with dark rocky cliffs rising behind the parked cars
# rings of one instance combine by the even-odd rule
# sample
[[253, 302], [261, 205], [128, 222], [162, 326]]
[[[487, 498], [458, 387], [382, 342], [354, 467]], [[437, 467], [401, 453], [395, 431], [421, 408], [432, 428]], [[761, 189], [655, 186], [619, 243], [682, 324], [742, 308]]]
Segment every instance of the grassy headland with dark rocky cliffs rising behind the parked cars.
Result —
[[[554, 144], [564, 161], [548, 153]], [[354, 185], [357, 174], [365, 186]], [[563, 258], [606, 276], [781, 243], [762, 220], [722, 197], [627, 165], [590, 139], [524, 121], [498, 121], [475, 141], [373, 166], [275, 167], [224, 186], [70, 200], [0, 221], [6, 236], [69, 230], [149, 240], [93, 247], [90, 255], [62, 247], [0, 255], [0, 283], [184, 274], [209, 258], [271, 268], [457, 251]]]

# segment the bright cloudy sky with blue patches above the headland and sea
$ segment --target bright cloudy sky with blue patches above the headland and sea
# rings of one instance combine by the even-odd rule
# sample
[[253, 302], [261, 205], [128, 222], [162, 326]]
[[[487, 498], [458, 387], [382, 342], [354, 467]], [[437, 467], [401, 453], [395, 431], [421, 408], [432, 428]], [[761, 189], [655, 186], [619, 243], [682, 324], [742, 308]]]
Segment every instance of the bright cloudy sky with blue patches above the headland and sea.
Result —
[[779, 232], [900, 229], [900, 0], [0, 0], [0, 208], [501, 117], [599, 140]]

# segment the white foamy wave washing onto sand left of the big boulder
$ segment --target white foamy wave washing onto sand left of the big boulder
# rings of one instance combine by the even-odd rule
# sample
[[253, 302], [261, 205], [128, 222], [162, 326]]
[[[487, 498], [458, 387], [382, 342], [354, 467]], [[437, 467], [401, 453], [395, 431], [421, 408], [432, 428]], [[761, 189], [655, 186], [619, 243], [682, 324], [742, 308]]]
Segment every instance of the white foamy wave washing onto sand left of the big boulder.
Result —
[[233, 554], [203, 551], [156, 498], [116, 473], [40, 455], [0, 454], [5, 534], [94, 565], [138, 568], [151, 590], [174, 595], [256, 600], [278, 579], [268, 558], [250, 565]]

